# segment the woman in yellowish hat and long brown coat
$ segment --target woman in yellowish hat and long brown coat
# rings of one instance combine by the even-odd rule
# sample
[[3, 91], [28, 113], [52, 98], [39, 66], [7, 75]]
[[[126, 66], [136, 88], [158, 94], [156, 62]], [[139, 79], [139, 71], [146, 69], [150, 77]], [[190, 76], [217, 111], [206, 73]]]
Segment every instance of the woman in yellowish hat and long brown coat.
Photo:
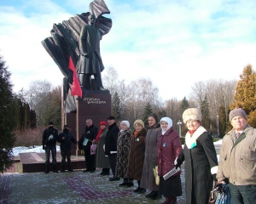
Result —
[[144, 122], [142, 120], [136, 120], [133, 123], [133, 127], [135, 130], [131, 135], [127, 178], [137, 180], [138, 187], [136, 190], [133, 190], [135, 193], [145, 193], [146, 190], [141, 188], [141, 178], [143, 174], [147, 129], [144, 128]]

